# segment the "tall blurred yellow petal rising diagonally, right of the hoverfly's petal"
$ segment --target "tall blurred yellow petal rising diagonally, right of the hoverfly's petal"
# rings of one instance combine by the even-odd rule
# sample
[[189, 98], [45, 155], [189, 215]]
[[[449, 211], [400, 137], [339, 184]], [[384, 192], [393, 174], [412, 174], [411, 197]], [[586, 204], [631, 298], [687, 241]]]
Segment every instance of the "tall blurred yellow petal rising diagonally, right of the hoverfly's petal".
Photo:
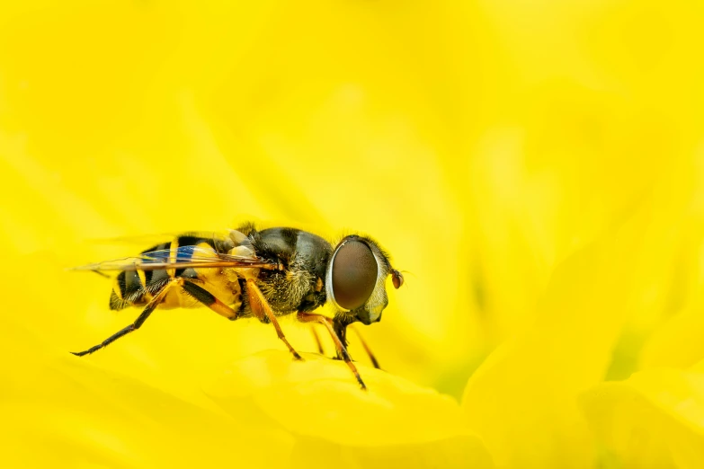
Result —
[[537, 321], [486, 359], [462, 407], [500, 467], [590, 467], [593, 442], [577, 396], [602, 381], [639, 294], [628, 272], [639, 256], [641, 211], [565, 261]]

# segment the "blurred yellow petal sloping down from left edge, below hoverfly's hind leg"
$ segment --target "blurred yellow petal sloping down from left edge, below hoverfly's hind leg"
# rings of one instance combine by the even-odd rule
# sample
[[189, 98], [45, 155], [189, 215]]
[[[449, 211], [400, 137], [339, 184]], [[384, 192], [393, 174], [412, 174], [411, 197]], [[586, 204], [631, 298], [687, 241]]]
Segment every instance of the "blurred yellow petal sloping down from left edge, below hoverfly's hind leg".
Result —
[[[4, 467], [285, 465], [294, 439], [94, 367], [3, 323]], [[273, 449], [272, 449], [273, 448]]]

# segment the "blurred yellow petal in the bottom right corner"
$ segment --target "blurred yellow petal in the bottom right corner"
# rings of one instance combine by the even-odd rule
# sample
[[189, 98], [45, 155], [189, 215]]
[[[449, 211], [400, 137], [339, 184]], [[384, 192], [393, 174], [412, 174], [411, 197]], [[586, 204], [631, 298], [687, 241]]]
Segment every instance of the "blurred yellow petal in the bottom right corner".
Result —
[[704, 465], [704, 374], [652, 369], [584, 395], [584, 410], [619, 467]]

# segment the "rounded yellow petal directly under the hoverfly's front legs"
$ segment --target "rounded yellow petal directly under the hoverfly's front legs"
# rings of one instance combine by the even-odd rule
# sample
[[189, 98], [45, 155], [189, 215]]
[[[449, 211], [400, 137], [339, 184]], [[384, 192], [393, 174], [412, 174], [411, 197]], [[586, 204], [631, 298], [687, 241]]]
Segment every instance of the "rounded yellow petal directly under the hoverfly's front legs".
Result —
[[[459, 405], [437, 391], [370, 367], [359, 367], [368, 391], [349, 368], [304, 354], [292, 361], [267, 351], [236, 361], [205, 391], [239, 420], [263, 421], [262, 412], [297, 436], [296, 455], [314, 461], [384, 467], [492, 467], [482, 442], [468, 432]], [[319, 458], [319, 459], [318, 459]]]

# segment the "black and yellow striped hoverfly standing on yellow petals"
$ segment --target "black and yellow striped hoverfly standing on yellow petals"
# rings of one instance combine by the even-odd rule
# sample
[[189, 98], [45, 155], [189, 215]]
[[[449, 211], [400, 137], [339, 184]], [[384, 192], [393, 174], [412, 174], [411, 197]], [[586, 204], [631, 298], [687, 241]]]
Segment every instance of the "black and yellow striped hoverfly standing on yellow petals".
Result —
[[[301, 322], [325, 326], [338, 358], [350, 367], [362, 389], [366, 386], [346, 349], [347, 327], [381, 319], [388, 305], [388, 276], [395, 288], [404, 283], [388, 254], [367, 236], [348, 235], [333, 247], [307, 231], [287, 227], [258, 231], [253, 224], [224, 235], [179, 235], [135, 257], [76, 269], [118, 271], [110, 308], [143, 309], [134, 323], [74, 355], [93, 353], [138, 330], [157, 308], [207, 306], [232, 321], [254, 316], [272, 323], [293, 357], [301, 359], [277, 320], [295, 313]], [[334, 308], [332, 319], [315, 313], [325, 304]]]

